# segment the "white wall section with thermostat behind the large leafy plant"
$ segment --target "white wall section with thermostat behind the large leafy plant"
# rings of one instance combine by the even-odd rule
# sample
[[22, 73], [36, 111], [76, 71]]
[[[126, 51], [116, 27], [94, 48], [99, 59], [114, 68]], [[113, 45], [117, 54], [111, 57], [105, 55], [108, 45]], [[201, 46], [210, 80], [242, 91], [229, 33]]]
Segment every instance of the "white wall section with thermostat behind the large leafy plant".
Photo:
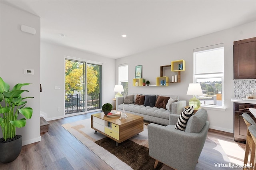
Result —
[[[24, 95], [34, 97], [34, 99], [27, 99], [26, 105], [32, 107], [33, 115], [27, 120], [25, 127], [17, 128], [16, 131], [16, 134], [22, 135], [22, 145], [25, 145], [41, 140], [40, 18], [2, 2], [0, 5], [0, 76], [10, 84], [11, 89], [17, 83], [32, 83], [22, 89], [29, 91], [24, 92]], [[36, 35], [22, 32], [21, 25], [35, 28]], [[34, 69], [34, 75], [24, 75], [24, 69]]]

